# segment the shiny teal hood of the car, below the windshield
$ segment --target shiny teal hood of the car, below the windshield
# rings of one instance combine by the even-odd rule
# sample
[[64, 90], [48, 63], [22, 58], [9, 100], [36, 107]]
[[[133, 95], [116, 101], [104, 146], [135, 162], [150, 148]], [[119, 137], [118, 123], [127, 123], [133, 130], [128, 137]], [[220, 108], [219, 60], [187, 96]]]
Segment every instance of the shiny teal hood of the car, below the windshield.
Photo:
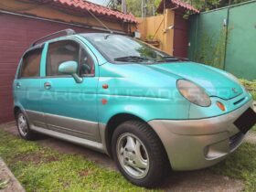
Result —
[[146, 65], [165, 75], [174, 74], [181, 79], [191, 80], [204, 88], [209, 96], [229, 100], [243, 92], [240, 84], [223, 70], [194, 62], [163, 63]]

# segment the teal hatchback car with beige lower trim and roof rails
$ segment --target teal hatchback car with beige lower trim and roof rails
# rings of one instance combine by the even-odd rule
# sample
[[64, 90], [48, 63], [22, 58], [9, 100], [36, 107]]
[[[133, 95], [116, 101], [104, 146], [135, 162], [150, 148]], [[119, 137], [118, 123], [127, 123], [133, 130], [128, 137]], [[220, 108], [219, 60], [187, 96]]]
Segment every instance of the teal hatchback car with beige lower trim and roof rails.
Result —
[[107, 33], [67, 29], [39, 39], [13, 91], [21, 137], [45, 133], [106, 153], [143, 187], [169, 168], [215, 165], [256, 120], [251, 95], [228, 72]]

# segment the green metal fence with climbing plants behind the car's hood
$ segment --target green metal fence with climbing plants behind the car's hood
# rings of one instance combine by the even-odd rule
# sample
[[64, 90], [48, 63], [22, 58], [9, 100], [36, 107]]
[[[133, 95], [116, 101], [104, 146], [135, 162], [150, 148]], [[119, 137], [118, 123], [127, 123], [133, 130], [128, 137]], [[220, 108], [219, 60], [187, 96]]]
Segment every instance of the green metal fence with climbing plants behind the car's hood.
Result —
[[188, 58], [256, 79], [256, 1], [190, 17]]

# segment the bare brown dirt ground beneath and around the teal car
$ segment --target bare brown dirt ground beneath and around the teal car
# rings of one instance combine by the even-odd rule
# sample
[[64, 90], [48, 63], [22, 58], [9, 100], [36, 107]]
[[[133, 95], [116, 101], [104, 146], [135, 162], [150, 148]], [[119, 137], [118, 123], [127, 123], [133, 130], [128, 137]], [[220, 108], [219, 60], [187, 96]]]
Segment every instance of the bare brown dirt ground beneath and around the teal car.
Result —
[[[18, 136], [15, 123], [6, 123], [4, 129]], [[97, 165], [117, 170], [112, 159], [107, 155], [94, 152], [76, 144], [60, 141], [59, 139], [41, 136], [38, 144], [48, 146], [59, 153], [82, 155]], [[174, 172], [165, 179], [161, 189], [165, 191], [241, 191], [244, 184], [241, 180], [212, 174], [208, 169], [191, 172]], [[0, 190], [1, 191], [1, 190]]]

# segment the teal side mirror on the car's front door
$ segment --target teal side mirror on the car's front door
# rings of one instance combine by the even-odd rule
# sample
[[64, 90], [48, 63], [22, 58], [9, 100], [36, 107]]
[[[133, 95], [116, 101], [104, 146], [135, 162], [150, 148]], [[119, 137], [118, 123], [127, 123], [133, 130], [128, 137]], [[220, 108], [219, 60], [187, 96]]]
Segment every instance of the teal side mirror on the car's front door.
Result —
[[78, 71], [78, 63], [73, 60], [65, 61], [59, 65], [59, 72], [71, 75], [77, 83], [80, 83], [82, 81], [82, 78], [80, 78], [77, 74]]

